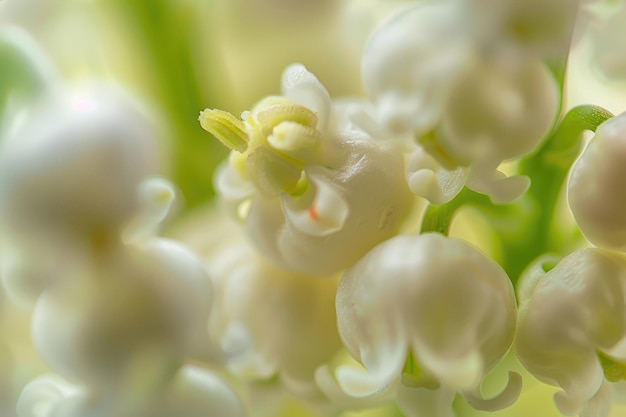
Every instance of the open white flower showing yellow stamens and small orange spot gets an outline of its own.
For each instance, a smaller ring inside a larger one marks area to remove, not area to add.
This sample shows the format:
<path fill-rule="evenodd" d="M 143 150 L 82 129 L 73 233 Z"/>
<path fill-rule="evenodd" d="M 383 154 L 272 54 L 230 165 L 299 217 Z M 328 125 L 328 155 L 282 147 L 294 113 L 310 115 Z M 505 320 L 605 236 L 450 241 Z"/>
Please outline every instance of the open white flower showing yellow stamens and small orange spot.
<path fill-rule="evenodd" d="M 217 188 L 259 250 L 283 269 L 326 275 L 398 231 L 412 204 L 402 154 L 335 112 L 302 65 L 285 70 L 282 88 L 243 121 L 219 110 L 200 121 L 233 149 Z"/>

